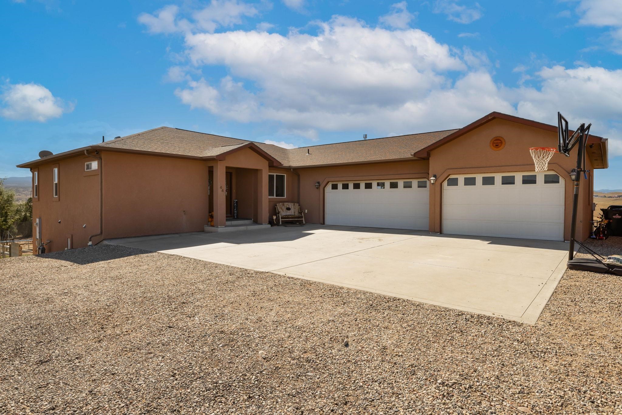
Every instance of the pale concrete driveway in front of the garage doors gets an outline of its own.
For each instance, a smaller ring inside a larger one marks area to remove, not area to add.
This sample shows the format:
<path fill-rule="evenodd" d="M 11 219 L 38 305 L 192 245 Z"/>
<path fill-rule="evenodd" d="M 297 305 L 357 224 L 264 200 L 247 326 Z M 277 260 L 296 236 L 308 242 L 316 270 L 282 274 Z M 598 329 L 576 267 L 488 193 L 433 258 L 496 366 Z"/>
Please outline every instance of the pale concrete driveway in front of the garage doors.
<path fill-rule="evenodd" d="M 535 324 L 566 269 L 556 241 L 350 226 L 279 226 L 107 243 Z"/>

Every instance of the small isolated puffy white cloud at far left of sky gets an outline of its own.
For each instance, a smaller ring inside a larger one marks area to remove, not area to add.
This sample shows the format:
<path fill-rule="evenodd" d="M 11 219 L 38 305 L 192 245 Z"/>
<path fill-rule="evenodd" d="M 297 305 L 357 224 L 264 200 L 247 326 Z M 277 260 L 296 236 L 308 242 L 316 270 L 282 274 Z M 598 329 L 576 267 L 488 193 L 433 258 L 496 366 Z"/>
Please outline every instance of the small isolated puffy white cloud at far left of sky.
<path fill-rule="evenodd" d="M 0 114 L 5 118 L 42 123 L 73 111 L 73 103 L 65 103 L 60 98 L 55 98 L 43 85 L 7 83 L 2 90 Z"/>

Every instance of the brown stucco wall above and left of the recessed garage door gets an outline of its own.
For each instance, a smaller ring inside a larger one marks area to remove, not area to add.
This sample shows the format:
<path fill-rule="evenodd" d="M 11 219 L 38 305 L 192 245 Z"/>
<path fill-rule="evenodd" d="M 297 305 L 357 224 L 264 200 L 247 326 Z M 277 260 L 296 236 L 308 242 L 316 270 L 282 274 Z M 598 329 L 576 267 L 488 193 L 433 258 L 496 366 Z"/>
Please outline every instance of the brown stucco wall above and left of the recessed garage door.
<path fill-rule="evenodd" d="M 335 180 L 419 179 L 428 177 L 427 161 L 404 161 L 351 166 L 297 169 L 300 174 L 300 207 L 309 223 L 324 223 L 324 189 Z M 320 182 L 320 189 L 315 184 Z"/>

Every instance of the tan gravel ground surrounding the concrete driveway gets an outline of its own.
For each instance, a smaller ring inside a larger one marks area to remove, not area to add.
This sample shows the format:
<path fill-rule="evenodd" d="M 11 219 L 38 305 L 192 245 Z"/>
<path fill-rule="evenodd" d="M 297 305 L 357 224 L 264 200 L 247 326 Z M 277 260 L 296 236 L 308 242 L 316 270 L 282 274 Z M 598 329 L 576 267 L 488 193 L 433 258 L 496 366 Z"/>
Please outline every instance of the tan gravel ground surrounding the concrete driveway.
<path fill-rule="evenodd" d="M 6 259 L 0 413 L 622 413 L 621 294 L 567 271 L 530 326 L 123 246 Z"/>

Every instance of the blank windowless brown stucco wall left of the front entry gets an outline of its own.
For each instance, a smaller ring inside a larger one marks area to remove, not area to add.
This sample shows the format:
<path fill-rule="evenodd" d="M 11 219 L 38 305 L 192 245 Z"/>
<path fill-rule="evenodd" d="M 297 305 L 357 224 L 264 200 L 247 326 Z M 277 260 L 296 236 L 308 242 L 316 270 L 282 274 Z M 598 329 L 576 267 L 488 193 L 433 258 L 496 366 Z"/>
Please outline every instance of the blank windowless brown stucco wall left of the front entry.
<path fill-rule="evenodd" d="M 102 153 L 104 238 L 202 231 L 208 166 L 203 161 Z"/>

